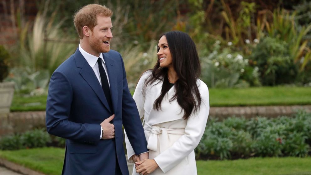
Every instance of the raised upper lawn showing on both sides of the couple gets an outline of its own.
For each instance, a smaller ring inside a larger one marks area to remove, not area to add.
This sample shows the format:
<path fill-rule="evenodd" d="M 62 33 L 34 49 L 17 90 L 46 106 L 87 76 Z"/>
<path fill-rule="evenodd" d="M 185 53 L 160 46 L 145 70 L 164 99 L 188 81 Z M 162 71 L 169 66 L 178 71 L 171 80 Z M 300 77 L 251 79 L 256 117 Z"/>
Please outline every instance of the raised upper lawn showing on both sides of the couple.
<path fill-rule="evenodd" d="M 132 92 L 133 94 L 133 92 Z M 250 87 L 209 89 L 211 106 L 271 106 L 311 104 L 311 87 Z M 11 111 L 45 110 L 46 95 L 14 95 Z"/>

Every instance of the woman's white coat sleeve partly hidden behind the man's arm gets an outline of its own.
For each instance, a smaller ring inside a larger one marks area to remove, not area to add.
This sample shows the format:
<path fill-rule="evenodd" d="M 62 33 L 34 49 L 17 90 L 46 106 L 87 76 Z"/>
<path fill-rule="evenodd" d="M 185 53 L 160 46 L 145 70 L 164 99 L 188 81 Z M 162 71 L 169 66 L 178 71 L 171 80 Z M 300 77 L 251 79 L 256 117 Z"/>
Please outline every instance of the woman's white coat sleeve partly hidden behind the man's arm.
<path fill-rule="evenodd" d="M 136 103 L 140 119 L 144 116 L 145 110 L 144 110 L 144 103 L 145 103 L 145 97 L 142 94 L 144 82 L 146 78 L 146 73 L 144 73 L 141 77 L 140 80 L 137 83 L 137 86 L 135 88 L 135 92 L 133 95 L 133 99 Z M 124 130 L 124 135 L 125 135 L 125 144 L 126 144 L 126 150 L 127 150 L 127 159 L 129 163 L 133 163 L 134 161 L 132 160 L 132 156 L 135 155 L 135 152 L 133 150 L 133 147 L 131 146 L 129 142 L 129 138 Z M 138 155 L 138 154 L 136 154 Z"/>

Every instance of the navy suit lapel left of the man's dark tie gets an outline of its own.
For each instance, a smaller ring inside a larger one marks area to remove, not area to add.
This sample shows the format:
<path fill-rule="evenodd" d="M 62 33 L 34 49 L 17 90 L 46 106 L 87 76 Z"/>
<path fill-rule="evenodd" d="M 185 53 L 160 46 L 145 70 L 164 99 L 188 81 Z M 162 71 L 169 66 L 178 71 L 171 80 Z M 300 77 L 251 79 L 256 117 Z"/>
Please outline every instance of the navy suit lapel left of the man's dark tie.
<path fill-rule="evenodd" d="M 91 68 L 89 64 L 87 64 L 87 61 L 82 56 L 79 49 L 76 50 L 75 53 L 75 60 L 76 60 L 76 66 L 81 68 L 80 75 L 84 78 L 84 80 L 91 86 L 93 91 L 96 93 L 100 101 L 103 103 L 103 105 L 108 109 L 108 111 L 111 112 L 107 99 L 105 97 L 105 94 L 103 92 L 102 87 L 100 86 L 98 79 Z"/>

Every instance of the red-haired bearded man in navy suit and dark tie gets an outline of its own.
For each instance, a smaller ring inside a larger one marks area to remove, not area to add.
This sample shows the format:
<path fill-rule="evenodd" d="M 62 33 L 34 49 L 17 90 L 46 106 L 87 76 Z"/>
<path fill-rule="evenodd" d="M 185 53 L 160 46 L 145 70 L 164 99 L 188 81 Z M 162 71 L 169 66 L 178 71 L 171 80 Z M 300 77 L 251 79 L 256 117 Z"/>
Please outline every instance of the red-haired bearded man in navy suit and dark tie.
<path fill-rule="evenodd" d="M 66 138 L 62 174 L 129 174 L 122 124 L 141 160 L 147 142 L 124 63 L 110 50 L 112 11 L 91 4 L 74 16 L 80 45 L 53 73 L 46 104 L 50 134 Z"/>

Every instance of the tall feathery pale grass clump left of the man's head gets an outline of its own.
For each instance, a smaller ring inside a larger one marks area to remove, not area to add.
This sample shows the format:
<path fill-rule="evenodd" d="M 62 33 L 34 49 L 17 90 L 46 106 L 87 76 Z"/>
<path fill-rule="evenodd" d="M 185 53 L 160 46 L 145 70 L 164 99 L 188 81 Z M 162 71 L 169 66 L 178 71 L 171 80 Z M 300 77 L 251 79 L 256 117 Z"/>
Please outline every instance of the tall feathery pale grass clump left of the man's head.
<path fill-rule="evenodd" d="M 33 26 L 29 27 L 28 21 L 26 26 L 20 29 L 19 45 L 13 50 L 14 65 L 29 69 L 31 74 L 47 70 L 51 75 L 74 53 L 78 43 L 72 42 L 72 38 L 61 30 L 60 27 L 66 18 L 56 21 L 57 9 L 47 17 L 49 2 L 46 1 L 43 11 L 37 13 Z"/>

